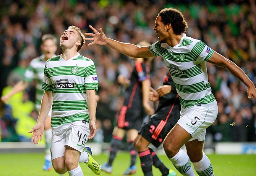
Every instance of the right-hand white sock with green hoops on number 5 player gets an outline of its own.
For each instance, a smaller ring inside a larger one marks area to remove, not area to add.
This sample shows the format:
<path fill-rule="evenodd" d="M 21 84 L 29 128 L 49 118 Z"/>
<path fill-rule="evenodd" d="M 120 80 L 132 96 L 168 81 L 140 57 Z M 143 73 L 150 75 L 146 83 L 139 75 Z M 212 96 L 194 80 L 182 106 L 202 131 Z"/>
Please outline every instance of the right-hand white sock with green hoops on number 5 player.
<path fill-rule="evenodd" d="M 211 162 L 204 152 L 203 158 L 199 162 L 193 163 L 193 165 L 199 176 L 214 176 Z"/>

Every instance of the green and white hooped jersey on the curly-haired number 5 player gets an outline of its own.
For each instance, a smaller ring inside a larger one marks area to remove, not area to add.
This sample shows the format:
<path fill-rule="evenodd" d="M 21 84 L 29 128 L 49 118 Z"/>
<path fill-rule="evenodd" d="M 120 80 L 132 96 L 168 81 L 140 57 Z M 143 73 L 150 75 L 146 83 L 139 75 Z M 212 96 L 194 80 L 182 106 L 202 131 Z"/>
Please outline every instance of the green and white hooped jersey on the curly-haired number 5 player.
<path fill-rule="evenodd" d="M 166 43 L 149 46 L 152 54 L 164 58 L 177 89 L 181 107 L 208 104 L 215 100 L 208 82 L 206 62 L 214 50 L 204 42 L 182 34 L 180 43 L 170 47 Z"/>

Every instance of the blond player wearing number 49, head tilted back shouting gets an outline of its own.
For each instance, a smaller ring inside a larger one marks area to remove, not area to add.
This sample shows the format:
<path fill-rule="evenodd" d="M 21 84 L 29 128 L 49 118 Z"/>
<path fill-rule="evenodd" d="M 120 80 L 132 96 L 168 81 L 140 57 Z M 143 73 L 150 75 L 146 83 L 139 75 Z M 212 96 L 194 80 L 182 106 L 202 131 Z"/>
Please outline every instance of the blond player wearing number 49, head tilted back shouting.
<path fill-rule="evenodd" d="M 78 162 L 85 162 L 100 174 L 99 164 L 91 149 L 84 147 L 96 133 L 96 95 L 98 78 L 91 59 L 78 53 L 85 43 L 78 27 L 70 26 L 60 37 L 62 54 L 47 60 L 44 68 L 45 90 L 31 142 L 42 139 L 44 121 L 52 105 L 51 156 L 54 170 L 68 171 L 70 176 L 83 176 Z"/>

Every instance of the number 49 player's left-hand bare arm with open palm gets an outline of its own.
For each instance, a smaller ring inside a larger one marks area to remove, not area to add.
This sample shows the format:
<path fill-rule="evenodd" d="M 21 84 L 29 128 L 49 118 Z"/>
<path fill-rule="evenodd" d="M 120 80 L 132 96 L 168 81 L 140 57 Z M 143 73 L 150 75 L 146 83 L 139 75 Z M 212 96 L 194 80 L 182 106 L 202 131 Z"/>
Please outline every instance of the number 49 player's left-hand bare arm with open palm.
<path fill-rule="evenodd" d="M 38 141 L 42 140 L 42 136 L 44 133 L 44 121 L 47 117 L 47 114 L 50 111 L 51 106 L 52 106 L 52 92 L 45 91 L 43 98 L 42 98 L 40 112 L 39 112 L 39 116 L 37 118 L 37 123 L 28 132 L 28 133 L 33 132 L 32 137 L 31 137 L 31 143 L 34 142 L 34 144 L 38 144 Z"/>

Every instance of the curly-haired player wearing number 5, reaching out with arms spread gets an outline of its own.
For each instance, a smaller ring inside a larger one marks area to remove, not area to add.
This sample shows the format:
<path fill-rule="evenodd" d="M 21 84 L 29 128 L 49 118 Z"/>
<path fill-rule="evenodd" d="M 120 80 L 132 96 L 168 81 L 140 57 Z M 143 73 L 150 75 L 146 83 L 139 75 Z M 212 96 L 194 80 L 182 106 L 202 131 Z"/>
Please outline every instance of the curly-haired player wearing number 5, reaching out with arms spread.
<path fill-rule="evenodd" d="M 107 38 L 100 28 L 98 32 L 85 33 L 92 44 L 107 45 L 131 57 L 161 55 L 175 82 L 181 102 L 180 119 L 164 140 L 164 150 L 175 168 L 187 176 L 213 176 L 210 160 L 203 152 L 206 128 L 216 119 L 218 108 L 207 78 L 206 62 L 224 67 L 247 86 L 248 98 L 256 98 L 256 88 L 246 74 L 232 61 L 215 52 L 200 40 L 188 37 L 188 24 L 183 14 L 174 8 L 161 10 L 156 17 L 154 30 L 159 41 L 151 46 L 139 47 Z M 186 145 L 187 153 L 181 149 Z"/>

